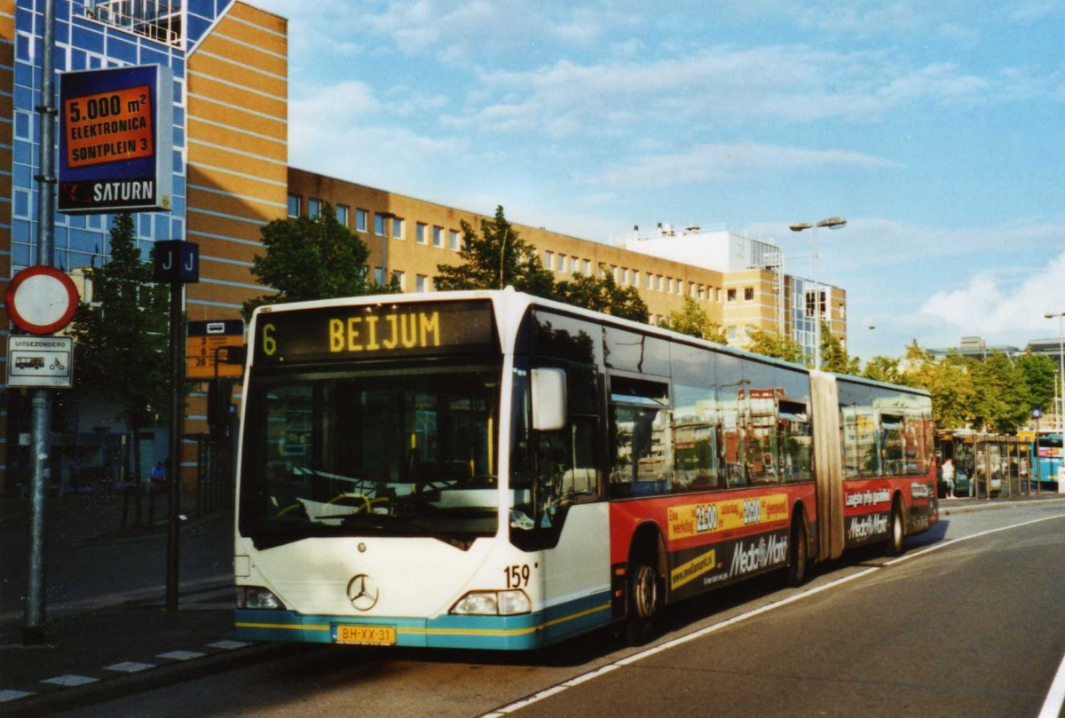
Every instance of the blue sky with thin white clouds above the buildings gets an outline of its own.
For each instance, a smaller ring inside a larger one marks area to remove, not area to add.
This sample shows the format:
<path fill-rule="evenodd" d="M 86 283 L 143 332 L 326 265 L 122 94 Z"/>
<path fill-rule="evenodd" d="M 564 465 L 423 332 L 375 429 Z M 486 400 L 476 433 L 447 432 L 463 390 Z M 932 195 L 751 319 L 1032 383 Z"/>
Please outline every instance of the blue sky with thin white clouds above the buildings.
<path fill-rule="evenodd" d="M 249 0 L 289 163 L 609 243 L 726 225 L 847 290 L 852 356 L 1065 311 L 1065 0 Z"/>

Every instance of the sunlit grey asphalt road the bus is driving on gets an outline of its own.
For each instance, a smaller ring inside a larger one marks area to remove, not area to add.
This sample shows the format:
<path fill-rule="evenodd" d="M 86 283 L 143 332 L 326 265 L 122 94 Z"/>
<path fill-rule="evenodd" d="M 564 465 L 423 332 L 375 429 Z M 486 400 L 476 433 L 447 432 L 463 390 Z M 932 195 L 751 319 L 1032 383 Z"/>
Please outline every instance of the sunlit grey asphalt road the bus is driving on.
<path fill-rule="evenodd" d="M 1065 654 L 1065 505 L 948 516 L 907 545 L 689 602 L 643 650 L 607 633 L 534 655 L 293 647 L 59 715 L 1041 716 Z"/>

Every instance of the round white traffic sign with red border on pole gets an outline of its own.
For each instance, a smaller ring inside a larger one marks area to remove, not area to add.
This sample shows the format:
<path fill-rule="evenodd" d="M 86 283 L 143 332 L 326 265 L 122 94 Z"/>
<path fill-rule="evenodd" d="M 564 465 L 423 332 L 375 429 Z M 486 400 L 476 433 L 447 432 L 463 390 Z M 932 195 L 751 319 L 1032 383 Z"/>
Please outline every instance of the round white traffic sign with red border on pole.
<path fill-rule="evenodd" d="M 31 334 L 54 333 L 78 311 L 78 288 L 52 266 L 31 266 L 16 274 L 4 299 L 11 321 Z"/>

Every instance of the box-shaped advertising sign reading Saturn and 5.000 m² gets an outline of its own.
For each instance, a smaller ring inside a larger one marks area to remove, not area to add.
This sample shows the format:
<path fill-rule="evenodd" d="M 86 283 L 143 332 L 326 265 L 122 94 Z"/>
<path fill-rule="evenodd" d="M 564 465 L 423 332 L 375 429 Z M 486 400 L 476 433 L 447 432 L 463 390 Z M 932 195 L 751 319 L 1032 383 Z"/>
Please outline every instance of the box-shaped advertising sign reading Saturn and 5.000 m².
<path fill-rule="evenodd" d="M 170 70 L 141 65 L 60 76 L 59 209 L 170 209 Z"/>

